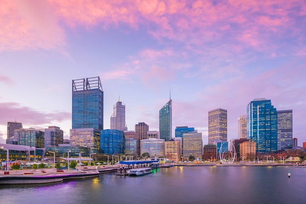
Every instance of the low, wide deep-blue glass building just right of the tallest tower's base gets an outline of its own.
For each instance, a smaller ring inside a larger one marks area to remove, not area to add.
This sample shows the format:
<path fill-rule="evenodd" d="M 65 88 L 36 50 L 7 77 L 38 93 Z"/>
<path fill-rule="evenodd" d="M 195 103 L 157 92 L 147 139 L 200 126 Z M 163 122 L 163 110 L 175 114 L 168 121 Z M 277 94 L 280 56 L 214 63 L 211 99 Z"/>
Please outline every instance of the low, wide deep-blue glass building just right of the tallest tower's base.
<path fill-rule="evenodd" d="M 124 154 L 125 136 L 120 130 L 101 130 L 101 153 Z"/>

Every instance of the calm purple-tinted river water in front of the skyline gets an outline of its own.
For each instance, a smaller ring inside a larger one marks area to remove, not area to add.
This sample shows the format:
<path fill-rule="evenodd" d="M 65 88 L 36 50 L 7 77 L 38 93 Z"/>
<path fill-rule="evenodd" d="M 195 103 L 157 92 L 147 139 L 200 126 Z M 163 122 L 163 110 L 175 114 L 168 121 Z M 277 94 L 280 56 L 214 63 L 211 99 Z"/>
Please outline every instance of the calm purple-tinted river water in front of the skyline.
<path fill-rule="evenodd" d="M 306 204 L 305 191 L 302 167 L 174 166 L 141 177 L 0 185 L 0 204 Z"/>

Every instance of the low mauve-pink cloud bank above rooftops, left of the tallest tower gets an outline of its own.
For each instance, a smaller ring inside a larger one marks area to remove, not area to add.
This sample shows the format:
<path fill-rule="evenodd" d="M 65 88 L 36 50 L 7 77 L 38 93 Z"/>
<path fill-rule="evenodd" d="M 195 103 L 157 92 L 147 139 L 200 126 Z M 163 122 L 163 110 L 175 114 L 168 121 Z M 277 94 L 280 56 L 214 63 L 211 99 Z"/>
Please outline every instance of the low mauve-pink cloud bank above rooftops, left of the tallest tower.
<path fill-rule="evenodd" d="M 44 113 L 30 107 L 21 106 L 16 102 L 0 102 L 0 113 L 0 124 L 3 125 L 6 125 L 8 121 L 15 121 L 15 119 L 27 125 L 42 125 L 71 119 L 71 113 L 65 111 Z"/>

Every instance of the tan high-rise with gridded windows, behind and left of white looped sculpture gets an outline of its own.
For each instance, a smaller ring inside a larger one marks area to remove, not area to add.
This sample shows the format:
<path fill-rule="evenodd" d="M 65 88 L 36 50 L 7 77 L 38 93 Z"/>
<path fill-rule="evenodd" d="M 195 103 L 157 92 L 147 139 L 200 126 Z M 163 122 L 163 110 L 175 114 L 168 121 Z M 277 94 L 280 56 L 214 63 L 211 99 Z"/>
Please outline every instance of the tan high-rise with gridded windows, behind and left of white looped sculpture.
<path fill-rule="evenodd" d="M 208 144 L 227 141 L 227 110 L 217 108 L 208 111 Z"/>

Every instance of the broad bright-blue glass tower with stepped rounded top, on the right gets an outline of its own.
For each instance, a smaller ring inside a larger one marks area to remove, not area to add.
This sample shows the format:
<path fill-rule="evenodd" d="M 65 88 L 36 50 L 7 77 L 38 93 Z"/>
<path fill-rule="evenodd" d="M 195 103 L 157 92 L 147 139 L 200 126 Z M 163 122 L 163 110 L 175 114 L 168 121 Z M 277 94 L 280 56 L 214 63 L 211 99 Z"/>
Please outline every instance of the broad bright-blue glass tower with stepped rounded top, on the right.
<path fill-rule="evenodd" d="M 246 127 L 256 153 L 277 152 L 277 111 L 271 100 L 254 99 L 247 105 Z"/>

